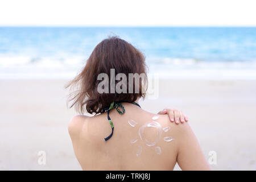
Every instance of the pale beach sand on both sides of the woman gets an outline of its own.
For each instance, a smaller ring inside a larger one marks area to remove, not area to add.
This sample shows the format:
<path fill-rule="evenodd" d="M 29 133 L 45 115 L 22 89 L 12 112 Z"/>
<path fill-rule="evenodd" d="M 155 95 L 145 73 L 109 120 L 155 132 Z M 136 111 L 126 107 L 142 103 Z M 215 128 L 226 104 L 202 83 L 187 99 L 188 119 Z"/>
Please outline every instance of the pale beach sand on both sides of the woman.
<path fill-rule="evenodd" d="M 81 170 L 67 130 L 76 113 L 66 107 L 65 82 L 0 80 L 1 170 Z M 216 152 L 212 169 L 256 169 L 256 81 L 160 80 L 159 98 L 140 104 L 187 114 L 205 157 Z M 39 151 L 46 152 L 44 165 Z"/>

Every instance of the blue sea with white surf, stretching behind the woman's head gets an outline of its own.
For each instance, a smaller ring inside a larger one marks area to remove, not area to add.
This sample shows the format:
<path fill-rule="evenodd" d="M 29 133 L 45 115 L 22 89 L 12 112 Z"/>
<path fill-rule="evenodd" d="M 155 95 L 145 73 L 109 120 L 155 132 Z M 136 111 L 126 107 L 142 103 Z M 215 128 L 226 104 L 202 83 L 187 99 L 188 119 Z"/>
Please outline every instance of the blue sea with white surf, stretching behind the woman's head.
<path fill-rule="evenodd" d="M 72 78 L 108 36 L 162 78 L 256 79 L 256 27 L 0 27 L 0 78 Z"/>

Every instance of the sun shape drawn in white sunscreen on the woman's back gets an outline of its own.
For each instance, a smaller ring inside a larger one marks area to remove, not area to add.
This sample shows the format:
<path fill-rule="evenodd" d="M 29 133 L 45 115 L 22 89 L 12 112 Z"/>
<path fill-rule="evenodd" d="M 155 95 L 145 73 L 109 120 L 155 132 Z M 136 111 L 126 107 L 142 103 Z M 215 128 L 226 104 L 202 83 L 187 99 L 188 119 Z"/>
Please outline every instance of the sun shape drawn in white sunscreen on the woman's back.
<path fill-rule="evenodd" d="M 152 146 L 155 146 L 155 152 L 156 154 L 160 155 L 162 150 L 159 146 L 156 146 L 156 144 L 158 144 L 160 138 L 162 137 L 162 131 L 163 132 L 167 132 L 171 129 L 171 127 L 167 126 L 167 127 L 164 127 L 162 128 L 162 126 L 160 125 L 160 123 L 156 122 L 155 120 L 158 119 L 159 116 L 158 115 L 155 115 L 154 117 L 152 117 L 152 120 L 153 121 L 149 121 L 149 122 L 146 122 L 144 125 L 142 125 L 141 127 L 139 127 L 138 129 L 138 134 L 139 136 L 136 137 L 135 139 L 132 139 L 130 140 L 130 143 L 131 144 L 134 144 L 136 143 L 139 139 L 141 139 L 141 141 L 146 144 L 146 146 L 148 147 L 152 147 Z M 129 125 L 131 127 L 135 127 L 138 123 L 135 122 L 134 120 L 129 120 L 128 121 Z M 144 129 L 147 128 L 147 127 L 153 127 L 156 129 L 156 133 L 154 134 L 155 136 L 155 139 L 154 141 L 149 141 L 145 136 L 144 136 Z M 166 142 L 171 142 L 172 140 L 174 140 L 172 137 L 164 137 L 163 138 L 164 141 Z M 139 155 L 141 155 L 142 153 L 142 146 L 138 146 L 137 148 L 137 157 Z"/>

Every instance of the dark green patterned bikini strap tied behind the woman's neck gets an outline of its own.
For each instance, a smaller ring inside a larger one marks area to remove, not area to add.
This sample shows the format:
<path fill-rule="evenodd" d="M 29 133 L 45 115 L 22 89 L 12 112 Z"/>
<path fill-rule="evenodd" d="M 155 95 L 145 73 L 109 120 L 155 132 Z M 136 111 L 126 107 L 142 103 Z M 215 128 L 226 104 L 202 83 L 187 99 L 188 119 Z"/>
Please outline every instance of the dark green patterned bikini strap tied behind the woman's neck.
<path fill-rule="evenodd" d="M 129 102 L 129 101 L 117 101 L 117 102 L 112 102 L 112 103 L 110 104 L 110 107 L 105 108 L 104 111 L 102 112 L 102 113 L 104 113 L 105 111 L 108 112 L 108 121 L 109 121 L 110 126 L 111 126 L 111 128 L 112 128 L 112 133 L 109 135 L 109 137 L 104 138 L 105 141 L 108 140 L 108 139 L 110 139 L 110 138 L 112 137 L 112 135 L 113 135 L 113 132 L 114 132 L 114 125 L 113 125 L 113 122 L 112 122 L 111 118 L 109 117 L 109 111 L 115 108 L 119 114 L 125 113 L 125 107 L 123 107 L 123 105 L 121 104 L 121 102 Z M 138 107 L 141 107 L 141 106 L 140 106 L 139 104 L 137 104 L 136 102 L 129 102 L 129 103 L 134 104 L 134 105 L 137 105 Z M 119 110 L 118 107 L 121 107 L 122 111 Z"/>

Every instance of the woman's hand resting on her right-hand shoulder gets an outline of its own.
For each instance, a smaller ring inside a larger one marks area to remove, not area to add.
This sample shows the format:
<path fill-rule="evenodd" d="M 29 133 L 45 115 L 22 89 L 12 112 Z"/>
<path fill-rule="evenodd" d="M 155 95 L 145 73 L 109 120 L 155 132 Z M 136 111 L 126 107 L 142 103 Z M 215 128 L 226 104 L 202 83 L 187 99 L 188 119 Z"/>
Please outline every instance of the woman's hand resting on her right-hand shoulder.
<path fill-rule="evenodd" d="M 188 117 L 186 115 L 184 115 L 181 111 L 176 110 L 176 109 L 163 109 L 161 111 L 158 112 L 158 114 L 168 114 L 170 121 L 174 122 L 176 124 L 184 123 L 184 122 L 188 122 Z"/>

